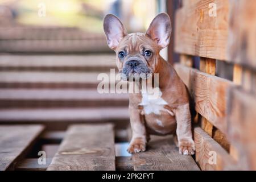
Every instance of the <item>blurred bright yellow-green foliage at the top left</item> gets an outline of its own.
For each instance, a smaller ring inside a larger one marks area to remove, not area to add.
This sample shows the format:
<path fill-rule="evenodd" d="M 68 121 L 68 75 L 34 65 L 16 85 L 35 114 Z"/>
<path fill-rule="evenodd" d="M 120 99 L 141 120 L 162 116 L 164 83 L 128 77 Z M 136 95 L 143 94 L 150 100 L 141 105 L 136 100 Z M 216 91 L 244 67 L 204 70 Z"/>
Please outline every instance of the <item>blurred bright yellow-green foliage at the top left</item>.
<path fill-rule="evenodd" d="M 102 18 L 106 0 L 22 0 L 16 2 L 17 21 L 39 26 L 79 27 L 87 31 L 102 32 Z M 39 5 L 46 5 L 46 16 L 38 15 Z"/>

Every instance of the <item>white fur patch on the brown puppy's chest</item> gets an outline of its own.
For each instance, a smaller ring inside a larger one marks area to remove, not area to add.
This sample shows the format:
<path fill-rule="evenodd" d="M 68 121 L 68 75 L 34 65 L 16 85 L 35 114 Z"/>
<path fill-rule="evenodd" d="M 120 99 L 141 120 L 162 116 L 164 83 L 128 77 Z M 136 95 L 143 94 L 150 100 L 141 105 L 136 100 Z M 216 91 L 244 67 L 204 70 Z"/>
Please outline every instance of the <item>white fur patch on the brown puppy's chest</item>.
<path fill-rule="evenodd" d="M 147 92 L 142 92 L 142 101 L 140 106 L 143 106 L 144 114 L 158 114 L 160 111 L 164 110 L 173 115 L 173 113 L 164 108 L 164 105 L 167 105 L 167 102 L 162 98 L 162 92 L 159 88 L 155 88 L 152 94 Z"/>

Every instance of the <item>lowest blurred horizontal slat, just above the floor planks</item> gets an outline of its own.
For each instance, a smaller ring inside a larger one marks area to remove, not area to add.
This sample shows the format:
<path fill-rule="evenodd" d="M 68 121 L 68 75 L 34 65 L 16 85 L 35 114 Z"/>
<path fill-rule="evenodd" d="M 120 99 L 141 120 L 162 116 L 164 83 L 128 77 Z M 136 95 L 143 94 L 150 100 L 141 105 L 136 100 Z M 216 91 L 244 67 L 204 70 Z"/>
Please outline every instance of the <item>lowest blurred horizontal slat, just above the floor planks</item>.
<path fill-rule="evenodd" d="M 44 123 L 48 130 L 67 130 L 74 123 L 110 122 L 118 129 L 129 125 L 127 107 L 90 107 L 70 109 L 1 109 L 1 124 Z"/>

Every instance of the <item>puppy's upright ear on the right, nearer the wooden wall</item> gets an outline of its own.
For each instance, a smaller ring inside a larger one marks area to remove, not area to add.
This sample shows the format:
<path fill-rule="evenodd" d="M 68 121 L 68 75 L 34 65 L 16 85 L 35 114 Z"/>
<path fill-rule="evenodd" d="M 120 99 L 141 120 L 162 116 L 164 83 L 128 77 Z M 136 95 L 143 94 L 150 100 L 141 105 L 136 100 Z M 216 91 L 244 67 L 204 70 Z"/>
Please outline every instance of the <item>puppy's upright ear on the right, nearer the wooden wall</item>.
<path fill-rule="evenodd" d="M 170 43 L 171 32 L 170 17 L 166 13 L 160 13 L 152 20 L 146 36 L 156 41 L 160 49 L 163 49 Z"/>

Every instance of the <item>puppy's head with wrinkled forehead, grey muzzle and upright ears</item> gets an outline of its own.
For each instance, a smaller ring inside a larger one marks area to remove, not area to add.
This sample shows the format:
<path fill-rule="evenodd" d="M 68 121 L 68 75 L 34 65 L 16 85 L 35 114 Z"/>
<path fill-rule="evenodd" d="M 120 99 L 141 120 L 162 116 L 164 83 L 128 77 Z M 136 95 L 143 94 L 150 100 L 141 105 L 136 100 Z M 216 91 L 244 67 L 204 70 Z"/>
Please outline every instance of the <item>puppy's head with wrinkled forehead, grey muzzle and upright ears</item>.
<path fill-rule="evenodd" d="M 104 18 L 108 46 L 117 54 L 117 67 L 127 78 L 129 74 L 158 72 L 159 52 L 168 46 L 171 21 L 166 13 L 152 20 L 146 33 L 127 34 L 121 20 L 112 14 Z"/>

